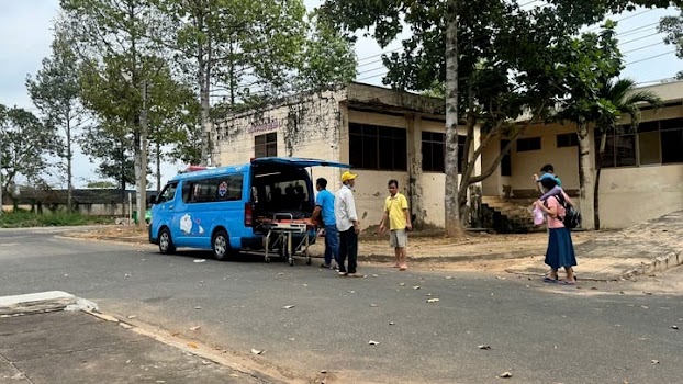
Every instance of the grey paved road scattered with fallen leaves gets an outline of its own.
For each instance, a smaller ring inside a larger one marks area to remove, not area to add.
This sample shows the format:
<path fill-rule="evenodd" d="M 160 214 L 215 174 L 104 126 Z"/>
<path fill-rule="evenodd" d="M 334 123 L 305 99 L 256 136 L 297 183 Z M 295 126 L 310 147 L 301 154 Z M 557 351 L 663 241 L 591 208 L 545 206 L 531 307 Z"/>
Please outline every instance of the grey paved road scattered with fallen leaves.
<path fill-rule="evenodd" d="M 683 374 L 683 330 L 672 329 L 683 327 L 683 271 L 578 289 L 363 266 L 368 278 L 343 279 L 303 263 L 195 262 L 209 253 L 55 235 L 0 230 L 0 295 L 66 291 L 299 377 L 500 383 L 508 371 L 517 383 L 675 383 Z"/>

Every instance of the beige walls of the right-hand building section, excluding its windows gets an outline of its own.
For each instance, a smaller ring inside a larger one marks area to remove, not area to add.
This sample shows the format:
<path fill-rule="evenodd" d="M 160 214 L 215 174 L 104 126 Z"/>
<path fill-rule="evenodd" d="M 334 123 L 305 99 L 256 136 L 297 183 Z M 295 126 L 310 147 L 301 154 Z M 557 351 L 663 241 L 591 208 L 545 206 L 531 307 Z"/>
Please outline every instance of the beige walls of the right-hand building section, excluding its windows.
<path fill-rule="evenodd" d="M 641 112 L 641 123 L 683 117 L 683 81 L 658 84 L 638 90 L 650 90 L 659 94 L 669 106 L 648 109 Z M 673 104 L 673 105 L 672 105 Z M 629 124 L 630 117 L 624 115 L 619 124 Z M 517 151 L 516 144 L 511 150 L 512 177 L 508 182 L 514 190 L 535 188 L 531 174 L 538 173 L 545 163 L 552 163 L 561 178 L 564 189 L 579 189 L 578 147 L 557 147 L 557 135 L 575 132 L 573 124 L 548 124 L 531 126 L 522 136 L 540 137 L 541 149 Z M 591 148 L 596 140 L 592 132 Z M 638 148 L 638 146 L 636 147 Z M 636 149 L 638 150 L 638 149 Z M 499 154 L 499 146 L 486 148 L 482 163 L 491 163 Z M 595 172 L 595 156 L 591 154 L 591 172 Z M 507 182 L 500 176 L 500 167 L 483 182 L 484 195 L 501 195 Z M 683 163 L 640 165 L 618 168 L 603 168 L 600 181 L 601 228 L 624 228 L 663 214 L 683 208 Z M 579 202 L 579 199 L 574 199 Z"/>

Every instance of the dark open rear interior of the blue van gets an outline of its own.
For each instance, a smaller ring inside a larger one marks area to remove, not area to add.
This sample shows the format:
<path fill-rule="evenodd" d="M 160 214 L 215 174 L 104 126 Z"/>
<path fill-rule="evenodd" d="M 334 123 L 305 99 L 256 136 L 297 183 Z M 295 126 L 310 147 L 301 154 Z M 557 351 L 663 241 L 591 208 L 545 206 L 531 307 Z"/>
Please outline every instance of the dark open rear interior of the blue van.
<path fill-rule="evenodd" d="M 314 207 L 311 177 L 301 168 L 259 167 L 251 182 L 251 203 L 256 217 L 275 217 L 278 213 L 310 217 Z"/>

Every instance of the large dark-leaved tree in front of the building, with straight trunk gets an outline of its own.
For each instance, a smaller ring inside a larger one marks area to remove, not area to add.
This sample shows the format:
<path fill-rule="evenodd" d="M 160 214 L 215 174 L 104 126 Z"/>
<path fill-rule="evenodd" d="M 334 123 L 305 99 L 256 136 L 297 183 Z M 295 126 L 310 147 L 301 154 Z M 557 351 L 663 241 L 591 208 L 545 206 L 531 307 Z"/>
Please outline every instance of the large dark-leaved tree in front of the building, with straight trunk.
<path fill-rule="evenodd" d="M 507 122 L 519 117 L 520 111 L 531 111 L 533 116 L 540 117 L 547 105 L 568 94 L 566 78 L 559 76 L 568 64 L 561 50 L 568 44 L 568 36 L 608 12 L 637 5 L 667 7 L 670 1 L 550 0 L 548 3 L 551 7 L 524 10 L 516 1 L 502 0 L 477 0 L 467 5 L 457 0 L 327 0 L 323 7 L 347 31 L 372 27 L 369 34 L 381 47 L 394 41 L 403 25 L 411 29 L 411 37 L 402 42 L 402 53 L 383 56 L 389 69 L 384 83 L 422 91 L 432 89 L 435 79 L 444 82 L 448 236 L 462 234 L 461 207 L 470 182 L 481 181 L 493 172 L 490 169 L 479 177 L 468 177 L 467 169 L 473 168 L 470 162 L 458 183 L 459 116 L 468 122 L 464 150 L 469 161 L 473 145 L 469 127 L 478 120 L 488 120 L 482 124 L 488 133 L 474 156 L 481 154 L 490 137 L 502 133 L 497 128 L 504 129 L 510 126 Z M 497 82 L 492 82 L 493 79 Z M 484 98 L 479 97 L 482 93 Z M 485 98 L 495 101 L 493 108 L 483 101 Z M 524 127 L 516 127 L 512 137 L 522 132 Z M 508 148 L 502 150 L 499 159 Z"/>

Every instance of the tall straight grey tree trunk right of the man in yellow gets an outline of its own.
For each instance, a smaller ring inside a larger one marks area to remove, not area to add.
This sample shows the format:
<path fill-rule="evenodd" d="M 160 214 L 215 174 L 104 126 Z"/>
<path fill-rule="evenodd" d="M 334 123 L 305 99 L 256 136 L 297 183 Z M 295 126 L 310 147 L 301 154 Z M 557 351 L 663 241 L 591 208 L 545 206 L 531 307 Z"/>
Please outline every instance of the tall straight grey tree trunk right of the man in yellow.
<path fill-rule="evenodd" d="M 444 191 L 447 237 L 464 235 L 458 193 L 458 2 L 446 11 L 446 185 Z"/>

